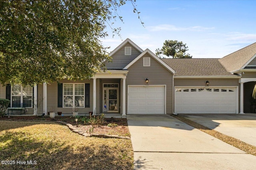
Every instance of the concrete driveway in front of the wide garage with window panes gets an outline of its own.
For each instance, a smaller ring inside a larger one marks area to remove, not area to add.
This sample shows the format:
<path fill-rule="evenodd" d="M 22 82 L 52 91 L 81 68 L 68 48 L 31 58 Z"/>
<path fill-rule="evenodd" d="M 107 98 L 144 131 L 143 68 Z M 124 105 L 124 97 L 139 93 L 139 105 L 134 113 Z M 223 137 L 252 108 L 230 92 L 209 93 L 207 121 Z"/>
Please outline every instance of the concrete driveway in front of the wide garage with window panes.
<path fill-rule="evenodd" d="M 180 116 L 256 146 L 256 114 L 194 114 Z"/>

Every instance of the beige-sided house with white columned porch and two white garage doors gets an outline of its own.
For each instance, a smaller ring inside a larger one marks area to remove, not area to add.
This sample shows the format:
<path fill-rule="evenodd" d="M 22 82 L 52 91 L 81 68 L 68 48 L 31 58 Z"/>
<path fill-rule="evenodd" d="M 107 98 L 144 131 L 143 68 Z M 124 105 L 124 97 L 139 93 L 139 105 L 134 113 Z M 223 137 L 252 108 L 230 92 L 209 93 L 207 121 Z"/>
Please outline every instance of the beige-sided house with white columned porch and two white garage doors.
<path fill-rule="evenodd" d="M 28 113 L 51 107 L 80 113 L 250 113 L 256 82 L 256 43 L 221 59 L 159 59 L 126 39 L 105 61 L 107 71 L 90 80 L 1 86 L 0 98 Z M 146 81 L 147 80 L 147 81 Z M 208 84 L 206 83 L 208 82 Z"/>

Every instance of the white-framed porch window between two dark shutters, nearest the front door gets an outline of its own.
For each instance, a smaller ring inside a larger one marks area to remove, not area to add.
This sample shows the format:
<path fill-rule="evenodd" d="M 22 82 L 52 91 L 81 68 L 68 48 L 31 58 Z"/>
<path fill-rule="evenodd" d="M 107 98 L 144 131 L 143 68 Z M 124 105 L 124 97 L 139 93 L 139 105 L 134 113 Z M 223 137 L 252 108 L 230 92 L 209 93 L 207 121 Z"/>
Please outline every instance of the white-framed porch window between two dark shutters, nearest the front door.
<path fill-rule="evenodd" d="M 63 84 L 64 107 L 84 107 L 84 84 Z"/>

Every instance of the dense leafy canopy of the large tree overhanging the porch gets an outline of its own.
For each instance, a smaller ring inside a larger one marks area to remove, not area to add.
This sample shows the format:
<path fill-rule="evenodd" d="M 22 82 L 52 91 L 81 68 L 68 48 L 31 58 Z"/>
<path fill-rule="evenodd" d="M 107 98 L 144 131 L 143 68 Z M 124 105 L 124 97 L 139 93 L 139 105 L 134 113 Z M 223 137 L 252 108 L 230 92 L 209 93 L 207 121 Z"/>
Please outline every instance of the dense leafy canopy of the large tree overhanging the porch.
<path fill-rule="evenodd" d="M 64 77 L 92 77 L 109 59 L 99 41 L 108 35 L 106 23 L 125 2 L 1 0 L 1 84 L 33 85 Z M 113 31 L 118 33 L 120 28 Z"/>

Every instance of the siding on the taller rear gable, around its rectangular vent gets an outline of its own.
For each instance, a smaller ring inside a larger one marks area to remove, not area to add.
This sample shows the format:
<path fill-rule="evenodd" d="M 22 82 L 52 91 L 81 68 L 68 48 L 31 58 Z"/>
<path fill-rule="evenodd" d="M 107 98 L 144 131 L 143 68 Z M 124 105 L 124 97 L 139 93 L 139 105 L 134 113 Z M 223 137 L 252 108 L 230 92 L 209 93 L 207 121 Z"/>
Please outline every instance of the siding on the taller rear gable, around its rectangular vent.
<path fill-rule="evenodd" d="M 132 45 L 130 45 L 130 43 L 126 43 L 124 47 L 112 56 L 112 62 L 106 61 L 105 65 L 108 69 L 122 69 L 141 54 L 140 51 L 132 47 L 132 55 L 124 55 L 125 47 L 132 47 Z"/>

